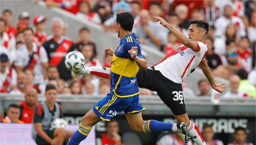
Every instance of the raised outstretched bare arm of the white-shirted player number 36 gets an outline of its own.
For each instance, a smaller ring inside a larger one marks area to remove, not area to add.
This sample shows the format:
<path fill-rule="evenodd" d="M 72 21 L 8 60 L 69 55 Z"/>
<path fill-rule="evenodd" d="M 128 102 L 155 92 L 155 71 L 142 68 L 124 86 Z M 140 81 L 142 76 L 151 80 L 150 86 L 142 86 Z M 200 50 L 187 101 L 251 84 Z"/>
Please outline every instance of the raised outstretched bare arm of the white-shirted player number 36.
<path fill-rule="evenodd" d="M 171 24 L 167 23 L 163 18 L 161 17 L 153 17 L 156 22 L 160 21 L 160 24 L 162 24 L 164 27 L 168 28 L 174 35 L 175 37 L 181 41 L 182 44 L 185 46 L 191 48 L 193 51 L 198 50 L 198 45 L 196 44 L 195 41 L 189 39 L 186 37 L 184 34 L 182 34 L 179 30 L 174 28 Z M 193 31 L 193 30 L 192 30 Z"/>

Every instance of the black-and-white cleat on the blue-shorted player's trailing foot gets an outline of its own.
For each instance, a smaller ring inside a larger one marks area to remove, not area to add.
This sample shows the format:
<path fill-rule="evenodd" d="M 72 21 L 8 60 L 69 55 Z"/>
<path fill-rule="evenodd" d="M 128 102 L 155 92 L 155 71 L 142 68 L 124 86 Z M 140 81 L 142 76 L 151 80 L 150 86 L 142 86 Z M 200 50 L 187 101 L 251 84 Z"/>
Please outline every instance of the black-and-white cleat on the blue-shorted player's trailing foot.
<path fill-rule="evenodd" d="M 178 128 L 177 134 L 180 135 L 180 137 L 186 143 L 188 143 L 190 139 L 190 133 L 189 133 L 187 124 L 184 122 L 177 122 L 177 128 Z"/>

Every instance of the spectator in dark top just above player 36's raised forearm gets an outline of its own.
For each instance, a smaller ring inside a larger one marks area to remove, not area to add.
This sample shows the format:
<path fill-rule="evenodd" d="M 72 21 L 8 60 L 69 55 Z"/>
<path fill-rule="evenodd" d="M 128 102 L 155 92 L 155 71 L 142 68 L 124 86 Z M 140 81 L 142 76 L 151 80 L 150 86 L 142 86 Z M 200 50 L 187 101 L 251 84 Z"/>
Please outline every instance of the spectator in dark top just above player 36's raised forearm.
<path fill-rule="evenodd" d="M 189 20 L 188 20 L 188 13 L 189 13 L 189 8 L 188 6 L 184 4 L 180 4 L 175 7 L 175 13 L 179 16 L 180 18 L 180 24 L 179 27 L 188 29 L 189 25 Z"/>

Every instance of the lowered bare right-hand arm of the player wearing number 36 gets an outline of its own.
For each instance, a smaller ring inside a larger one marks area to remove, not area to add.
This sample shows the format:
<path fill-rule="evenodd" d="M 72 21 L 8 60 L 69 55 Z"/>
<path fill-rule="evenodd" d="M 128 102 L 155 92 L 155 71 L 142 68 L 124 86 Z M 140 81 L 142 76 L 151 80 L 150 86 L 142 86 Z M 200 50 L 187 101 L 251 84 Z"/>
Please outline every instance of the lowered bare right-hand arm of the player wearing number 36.
<path fill-rule="evenodd" d="M 226 86 L 222 86 L 222 85 L 224 85 L 225 83 L 221 83 L 221 84 L 216 84 L 216 83 L 215 83 L 213 74 L 211 73 L 211 70 L 210 70 L 210 68 L 208 67 L 207 62 L 204 61 L 204 62 L 200 63 L 200 64 L 199 64 L 199 67 L 202 69 L 203 74 L 204 74 L 204 75 L 206 76 L 206 78 L 208 79 L 208 81 L 209 81 L 211 87 L 212 87 L 214 90 L 216 90 L 216 91 L 218 91 L 218 92 L 220 92 L 220 93 L 224 92 L 224 89 L 223 89 L 223 88 L 226 88 Z"/>

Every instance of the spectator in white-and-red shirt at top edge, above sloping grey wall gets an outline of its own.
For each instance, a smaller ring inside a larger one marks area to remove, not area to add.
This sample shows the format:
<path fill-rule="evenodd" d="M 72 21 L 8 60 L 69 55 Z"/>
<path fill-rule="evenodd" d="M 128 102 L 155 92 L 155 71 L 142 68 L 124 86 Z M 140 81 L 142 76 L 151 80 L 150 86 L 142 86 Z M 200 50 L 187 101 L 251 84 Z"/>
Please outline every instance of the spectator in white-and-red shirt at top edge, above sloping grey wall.
<path fill-rule="evenodd" d="M 77 12 L 75 16 L 82 21 L 90 21 L 96 24 L 101 24 L 99 14 L 90 11 L 90 5 L 88 1 L 80 2 L 79 12 Z"/>

